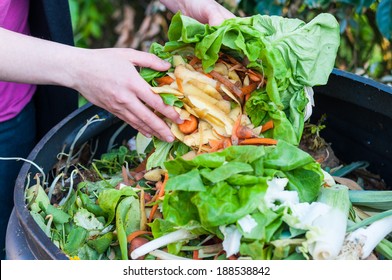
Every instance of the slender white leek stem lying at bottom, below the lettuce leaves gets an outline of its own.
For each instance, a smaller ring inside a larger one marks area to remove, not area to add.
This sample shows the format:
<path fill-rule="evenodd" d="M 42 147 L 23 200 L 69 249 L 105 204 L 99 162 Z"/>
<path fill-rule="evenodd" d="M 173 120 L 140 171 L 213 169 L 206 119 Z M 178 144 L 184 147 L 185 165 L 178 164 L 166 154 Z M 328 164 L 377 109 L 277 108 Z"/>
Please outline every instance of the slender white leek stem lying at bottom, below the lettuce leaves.
<path fill-rule="evenodd" d="M 179 229 L 177 231 L 173 231 L 169 234 L 153 239 L 150 242 L 147 242 L 146 244 L 136 248 L 132 251 L 131 258 L 137 259 L 170 243 L 194 239 L 196 237 L 197 235 L 194 235 L 185 229 Z"/>

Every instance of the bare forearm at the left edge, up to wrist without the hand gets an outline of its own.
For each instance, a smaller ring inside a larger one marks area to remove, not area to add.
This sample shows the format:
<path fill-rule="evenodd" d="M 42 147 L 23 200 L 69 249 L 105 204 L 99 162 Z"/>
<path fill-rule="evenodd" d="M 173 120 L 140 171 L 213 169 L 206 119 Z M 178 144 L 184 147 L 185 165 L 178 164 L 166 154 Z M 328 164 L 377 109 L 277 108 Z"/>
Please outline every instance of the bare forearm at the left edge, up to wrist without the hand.
<path fill-rule="evenodd" d="M 0 80 L 72 87 L 70 68 L 81 51 L 0 28 Z"/>

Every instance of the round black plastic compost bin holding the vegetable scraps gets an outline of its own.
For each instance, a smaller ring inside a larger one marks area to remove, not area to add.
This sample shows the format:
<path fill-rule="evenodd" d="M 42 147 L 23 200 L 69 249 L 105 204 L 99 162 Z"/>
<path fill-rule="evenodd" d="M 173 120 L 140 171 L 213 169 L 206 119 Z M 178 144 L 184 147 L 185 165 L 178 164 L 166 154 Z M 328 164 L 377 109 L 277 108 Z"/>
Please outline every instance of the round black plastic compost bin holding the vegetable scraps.
<path fill-rule="evenodd" d="M 327 115 L 323 137 L 332 143 L 337 157 L 345 162 L 367 161 L 368 170 L 379 174 L 392 189 L 392 88 L 351 73 L 334 70 L 325 86 L 315 87 L 316 107 L 313 120 Z M 99 115 L 105 121 L 88 127 L 78 144 L 99 140 L 96 155 L 108 145 L 135 135 L 129 126 L 115 139 L 113 135 L 123 125 L 116 117 L 93 105 L 86 105 L 72 113 L 53 128 L 34 148 L 29 160 L 44 171 L 57 162 L 56 155 L 69 147 L 86 120 Z M 38 170 L 25 163 L 15 186 L 15 208 L 10 218 L 6 252 L 8 259 L 67 259 L 38 227 L 26 209 L 24 191 L 29 173 Z"/>

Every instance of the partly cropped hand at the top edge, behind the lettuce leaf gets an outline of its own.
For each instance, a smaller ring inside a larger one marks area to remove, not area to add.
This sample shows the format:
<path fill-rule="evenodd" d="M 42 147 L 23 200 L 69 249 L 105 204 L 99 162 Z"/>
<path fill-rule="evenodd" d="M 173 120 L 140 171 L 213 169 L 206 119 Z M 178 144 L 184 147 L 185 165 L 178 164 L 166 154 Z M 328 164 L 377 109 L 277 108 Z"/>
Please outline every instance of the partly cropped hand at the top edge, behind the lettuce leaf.
<path fill-rule="evenodd" d="M 161 2 L 172 12 L 181 11 L 182 14 L 209 25 L 219 25 L 225 19 L 235 17 L 233 13 L 214 0 L 161 0 Z"/>

